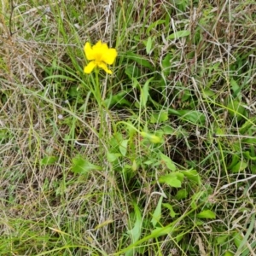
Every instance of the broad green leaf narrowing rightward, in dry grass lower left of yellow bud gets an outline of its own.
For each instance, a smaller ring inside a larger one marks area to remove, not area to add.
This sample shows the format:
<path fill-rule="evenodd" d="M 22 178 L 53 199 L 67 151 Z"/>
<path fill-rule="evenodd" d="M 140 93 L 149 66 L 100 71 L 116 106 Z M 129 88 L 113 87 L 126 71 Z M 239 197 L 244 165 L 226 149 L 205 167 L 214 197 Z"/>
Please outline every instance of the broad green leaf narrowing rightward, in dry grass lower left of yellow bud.
<path fill-rule="evenodd" d="M 88 160 L 85 160 L 84 157 L 78 155 L 72 160 L 73 166 L 71 170 L 73 173 L 84 174 L 93 170 L 101 171 L 101 166 L 96 166 L 91 164 Z"/>

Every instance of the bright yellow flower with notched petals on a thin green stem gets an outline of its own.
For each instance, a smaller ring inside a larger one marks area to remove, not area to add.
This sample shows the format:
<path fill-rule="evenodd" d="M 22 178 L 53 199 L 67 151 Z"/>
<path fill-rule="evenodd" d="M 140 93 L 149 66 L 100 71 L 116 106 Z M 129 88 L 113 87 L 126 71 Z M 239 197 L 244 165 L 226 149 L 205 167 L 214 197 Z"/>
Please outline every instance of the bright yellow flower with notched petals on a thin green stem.
<path fill-rule="evenodd" d="M 84 67 L 84 73 L 91 73 L 95 67 L 103 68 L 107 73 L 112 73 L 108 69 L 108 65 L 112 65 L 117 56 L 116 49 L 108 48 L 107 44 L 102 44 L 102 41 L 98 41 L 97 44 L 91 47 L 90 43 L 84 45 L 84 53 L 88 61 L 88 65 Z"/>

